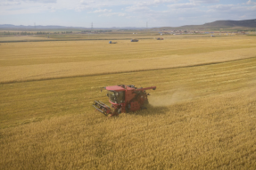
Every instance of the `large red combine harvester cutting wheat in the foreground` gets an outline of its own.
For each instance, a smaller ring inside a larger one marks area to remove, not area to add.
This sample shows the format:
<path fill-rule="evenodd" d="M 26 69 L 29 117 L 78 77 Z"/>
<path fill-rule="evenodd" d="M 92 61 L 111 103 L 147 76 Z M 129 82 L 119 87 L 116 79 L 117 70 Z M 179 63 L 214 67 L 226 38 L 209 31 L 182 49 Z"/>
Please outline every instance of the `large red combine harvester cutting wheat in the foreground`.
<path fill-rule="evenodd" d="M 128 113 L 138 109 L 145 109 L 144 104 L 148 103 L 145 90 L 156 89 L 156 86 L 136 88 L 134 85 L 113 85 L 103 87 L 108 91 L 107 96 L 111 107 L 102 101 L 95 101 L 93 106 L 105 116 L 119 116 L 120 113 Z M 112 110 L 112 109 L 113 110 Z"/>

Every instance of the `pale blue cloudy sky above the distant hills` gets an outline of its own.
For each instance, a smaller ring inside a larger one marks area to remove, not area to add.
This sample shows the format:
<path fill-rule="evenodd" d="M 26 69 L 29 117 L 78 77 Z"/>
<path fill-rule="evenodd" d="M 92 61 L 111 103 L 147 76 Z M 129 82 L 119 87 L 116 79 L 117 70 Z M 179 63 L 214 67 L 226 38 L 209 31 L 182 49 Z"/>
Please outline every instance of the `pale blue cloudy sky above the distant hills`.
<path fill-rule="evenodd" d="M 0 24 L 178 27 L 256 19 L 256 0 L 0 0 Z"/>

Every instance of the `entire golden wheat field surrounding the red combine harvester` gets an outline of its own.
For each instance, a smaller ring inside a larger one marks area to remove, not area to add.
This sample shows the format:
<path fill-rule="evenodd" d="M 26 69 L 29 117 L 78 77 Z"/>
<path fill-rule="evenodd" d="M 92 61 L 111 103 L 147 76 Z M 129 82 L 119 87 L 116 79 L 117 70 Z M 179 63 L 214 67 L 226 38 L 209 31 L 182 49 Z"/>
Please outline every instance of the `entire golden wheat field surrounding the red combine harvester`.
<path fill-rule="evenodd" d="M 1 169 L 255 169 L 256 37 L 1 44 Z M 100 87 L 156 85 L 120 117 Z"/>

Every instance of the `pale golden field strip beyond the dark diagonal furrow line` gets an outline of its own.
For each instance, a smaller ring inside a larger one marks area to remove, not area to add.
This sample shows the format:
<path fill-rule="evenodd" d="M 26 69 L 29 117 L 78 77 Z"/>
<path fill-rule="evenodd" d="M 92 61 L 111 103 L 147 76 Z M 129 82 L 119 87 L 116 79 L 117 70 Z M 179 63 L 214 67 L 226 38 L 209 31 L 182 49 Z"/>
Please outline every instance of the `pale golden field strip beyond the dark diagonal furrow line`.
<path fill-rule="evenodd" d="M 0 45 L 0 82 L 192 66 L 254 57 L 255 37 Z"/>

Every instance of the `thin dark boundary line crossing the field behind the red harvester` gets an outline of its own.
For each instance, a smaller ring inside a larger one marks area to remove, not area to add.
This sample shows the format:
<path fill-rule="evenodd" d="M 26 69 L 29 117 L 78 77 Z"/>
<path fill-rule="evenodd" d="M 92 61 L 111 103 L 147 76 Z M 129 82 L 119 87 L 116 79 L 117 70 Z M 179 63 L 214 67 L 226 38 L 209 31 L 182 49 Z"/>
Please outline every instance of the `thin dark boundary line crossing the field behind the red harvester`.
<path fill-rule="evenodd" d="M 221 64 L 221 63 L 234 62 L 234 61 L 244 61 L 244 60 L 250 60 L 250 59 L 256 59 L 256 56 L 248 57 L 248 58 L 244 58 L 244 59 L 236 59 L 236 60 L 232 60 L 232 61 L 214 61 L 214 62 L 205 62 L 205 63 L 199 63 L 199 64 L 194 64 L 194 65 L 178 66 L 178 67 L 166 67 L 166 68 L 157 68 L 157 69 L 135 69 L 135 70 L 128 70 L 128 71 L 112 71 L 112 72 L 105 72 L 105 73 L 84 74 L 84 75 L 74 75 L 74 76 L 45 77 L 45 78 L 23 79 L 23 80 L 22 79 L 10 80 L 10 81 L 0 82 L 0 85 L 13 84 L 13 83 L 23 83 L 23 82 L 33 82 L 33 81 L 45 81 L 45 80 L 54 80 L 54 79 L 64 79 L 64 78 L 73 78 L 73 77 L 95 77 L 95 76 L 103 76 L 103 75 L 132 73 L 132 72 L 142 72 L 142 71 L 153 71 L 153 70 L 161 70 L 161 69 L 193 68 L 193 67 Z"/>

